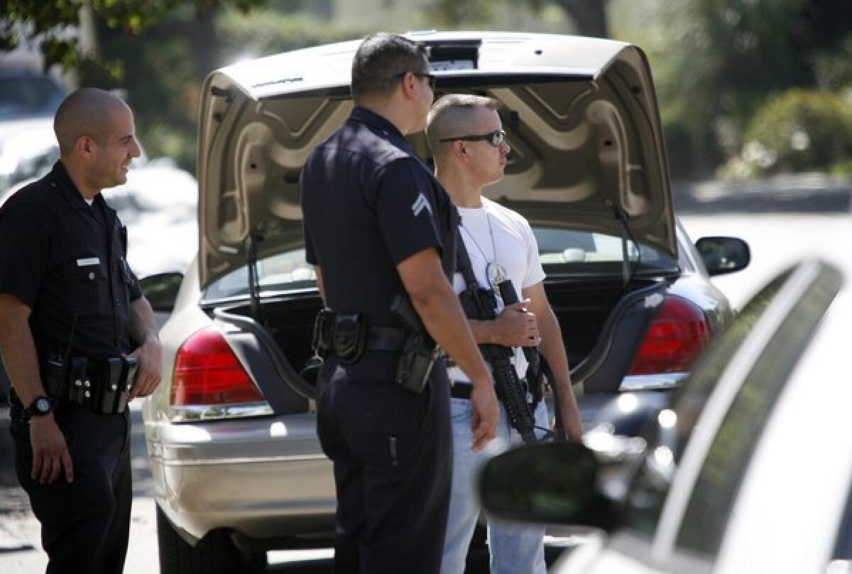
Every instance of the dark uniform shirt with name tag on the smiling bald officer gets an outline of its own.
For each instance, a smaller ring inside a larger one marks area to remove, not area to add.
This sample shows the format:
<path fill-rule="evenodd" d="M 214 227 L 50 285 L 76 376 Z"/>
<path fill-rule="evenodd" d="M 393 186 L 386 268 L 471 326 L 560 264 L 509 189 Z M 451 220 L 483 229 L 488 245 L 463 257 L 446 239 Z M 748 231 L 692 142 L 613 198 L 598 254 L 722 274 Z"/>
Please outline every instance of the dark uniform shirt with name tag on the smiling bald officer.
<path fill-rule="evenodd" d="M 89 206 L 61 161 L 0 208 L 0 293 L 32 309 L 40 357 L 132 351 L 130 302 L 141 297 L 125 260 L 126 230 L 98 194 Z"/>

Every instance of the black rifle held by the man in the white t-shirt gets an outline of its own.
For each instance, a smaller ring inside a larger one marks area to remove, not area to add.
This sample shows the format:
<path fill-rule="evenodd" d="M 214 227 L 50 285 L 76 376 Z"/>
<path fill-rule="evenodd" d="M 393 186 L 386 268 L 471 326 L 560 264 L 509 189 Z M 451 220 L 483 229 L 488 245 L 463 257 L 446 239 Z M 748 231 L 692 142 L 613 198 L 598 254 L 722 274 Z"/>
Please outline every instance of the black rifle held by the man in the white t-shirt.
<path fill-rule="evenodd" d="M 461 237 L 458 238 L 458 269 L 462 272 L 467 289 L 459 294 L 464 314 L 470 319 L 492 321 L 497 318 L 497 298 L 492 289 L 483 289 L 470 265 L 470 256 Z M 517 299 L 515 297 L 515 299 Z M 535 436 L 535 417 L 527 403 L 527 391 L 518 379 L 511 358 L 515 351 L 503 345 L 479 345 L 482 357 L 491 366 L 497 392 L 509 415 L 509 424 L 515 428 L 525 443 L 538 442 Z"/>

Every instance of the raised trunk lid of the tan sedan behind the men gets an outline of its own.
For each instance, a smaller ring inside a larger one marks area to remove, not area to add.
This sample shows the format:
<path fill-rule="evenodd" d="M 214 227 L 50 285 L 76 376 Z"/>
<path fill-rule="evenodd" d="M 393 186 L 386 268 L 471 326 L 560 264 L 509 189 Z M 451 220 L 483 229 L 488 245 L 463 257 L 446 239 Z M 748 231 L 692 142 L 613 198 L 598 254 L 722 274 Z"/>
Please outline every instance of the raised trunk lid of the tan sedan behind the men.
<path fill-rule="evenodd" d="M 533 226 L 627 235 L 676 258 L 663 134 L 641 49 L 545 34 L 410 36 L 431 48 L 436 97 L 473 91 L 503 105 L 512 153 L 489 197 Z M 205 80 L 202 288 L 251 259 L 302 246 L 299 174 L 314 146 L 352 109 L 350 67 L 359 43 L 270 56 Z M 429 159 L 423 134 L 411 139 Z"/>

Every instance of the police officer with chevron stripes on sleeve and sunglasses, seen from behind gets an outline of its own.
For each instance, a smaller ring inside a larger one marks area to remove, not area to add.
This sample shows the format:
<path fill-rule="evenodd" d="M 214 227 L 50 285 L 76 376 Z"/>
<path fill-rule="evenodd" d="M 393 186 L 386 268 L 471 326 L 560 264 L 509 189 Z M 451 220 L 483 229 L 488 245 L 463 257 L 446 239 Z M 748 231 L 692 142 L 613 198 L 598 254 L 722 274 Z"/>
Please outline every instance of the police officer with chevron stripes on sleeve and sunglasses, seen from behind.
<path fill-rule="evenodd" d="M 422 391 L 398 384 L 407 356 L 394 336 L 405 331 L 391 310 L 399 296 L 472 369 L 475 448 L 497 423 L 491 375 L 448 281 L 458 214 L 404 137 L 423 130 L 433 84 L 420 44 L 367 37 L 352 65 L 354 110 L 302 171 L 307 258 L 332 317 L 317 430 L 334 463 L 342 572 L 440 567 L 452 470 L 449 381 L 441 365 Z M 360 345 L 349 345 L 353 333 Z"/>

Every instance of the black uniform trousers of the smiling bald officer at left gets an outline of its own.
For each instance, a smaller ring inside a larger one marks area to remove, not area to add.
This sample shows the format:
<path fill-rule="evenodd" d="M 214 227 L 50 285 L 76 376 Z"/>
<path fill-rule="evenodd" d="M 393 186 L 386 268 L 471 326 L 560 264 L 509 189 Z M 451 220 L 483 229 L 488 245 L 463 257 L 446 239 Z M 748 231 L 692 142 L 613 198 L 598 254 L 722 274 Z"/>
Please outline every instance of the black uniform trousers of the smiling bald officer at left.
<path fill-rule="evenodd" d="M 47 573 L 118 574 L 124 570 L 133 499 L 129 411 L 100 415 L 60 403 L 55 420 L 71 454 L 71 484 L 64 470 L 53 484 L 33 480 L 29 426 L 20 420 L 11 426 L 15 471 L 42 524 Z"/>

